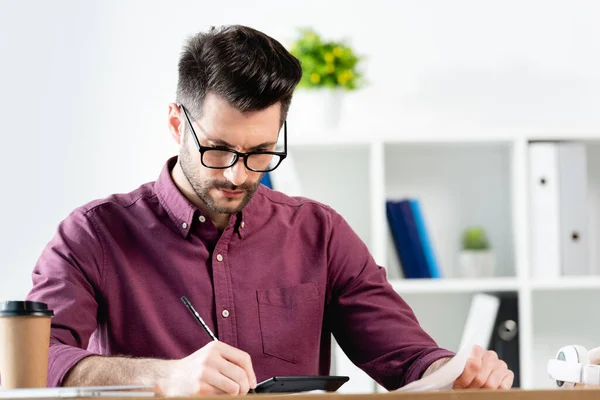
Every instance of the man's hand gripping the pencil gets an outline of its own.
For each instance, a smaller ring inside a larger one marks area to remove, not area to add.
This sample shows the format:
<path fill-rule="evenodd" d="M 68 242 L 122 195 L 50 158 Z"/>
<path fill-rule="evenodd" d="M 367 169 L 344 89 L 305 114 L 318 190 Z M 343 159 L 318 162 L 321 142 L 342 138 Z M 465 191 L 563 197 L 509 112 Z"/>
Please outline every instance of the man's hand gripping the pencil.
<path fill-rule="evenodd" d="M 158 384 L 166 396 L 245 395 L 256 387 L 248 353 L 223 342 L 211 342 L 181 360 L 170 362 Z"/>

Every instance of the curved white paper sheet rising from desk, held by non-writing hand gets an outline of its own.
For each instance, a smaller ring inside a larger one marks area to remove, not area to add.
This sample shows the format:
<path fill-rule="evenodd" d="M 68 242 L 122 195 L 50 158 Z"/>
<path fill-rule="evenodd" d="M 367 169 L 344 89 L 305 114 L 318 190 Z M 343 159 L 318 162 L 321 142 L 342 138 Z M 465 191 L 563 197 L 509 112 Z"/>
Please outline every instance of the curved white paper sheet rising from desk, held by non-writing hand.
<path fill-rule="evenodd" d="M 454 357 L 446 364 L 433 373 L 411 382 L 408 385 L 396 389 L 396 392 L 422 392 L 426 390 L 448 390 L 452 389 L 452 385 L 458 378 L 467 365 L 467 360 L 471 355 L 473 346 L 464 346 Z"/>

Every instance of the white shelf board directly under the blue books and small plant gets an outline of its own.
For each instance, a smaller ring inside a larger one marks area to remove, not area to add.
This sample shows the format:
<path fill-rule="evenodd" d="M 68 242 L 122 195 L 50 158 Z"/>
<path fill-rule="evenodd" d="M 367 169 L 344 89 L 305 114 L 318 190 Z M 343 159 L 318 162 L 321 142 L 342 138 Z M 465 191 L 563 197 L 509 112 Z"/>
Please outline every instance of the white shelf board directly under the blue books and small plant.
<path fill-rule="evenodd" d="M 394 279 L 390 280 L 390 283 L 400 294 L 510 292 L 516 291 L 520 287 L 515 278 Z"/>

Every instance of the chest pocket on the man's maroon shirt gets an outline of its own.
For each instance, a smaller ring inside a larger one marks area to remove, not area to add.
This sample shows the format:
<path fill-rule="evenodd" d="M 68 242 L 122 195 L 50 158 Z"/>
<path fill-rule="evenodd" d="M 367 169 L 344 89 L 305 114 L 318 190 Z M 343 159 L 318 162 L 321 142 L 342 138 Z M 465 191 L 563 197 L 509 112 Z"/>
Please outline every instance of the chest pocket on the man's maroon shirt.
<path fill-rule="evenodd" d="M 318 351 L 323 318 L 319 287 L 313 282 L 257 290 L 263 352 L 297 363 Z"/>

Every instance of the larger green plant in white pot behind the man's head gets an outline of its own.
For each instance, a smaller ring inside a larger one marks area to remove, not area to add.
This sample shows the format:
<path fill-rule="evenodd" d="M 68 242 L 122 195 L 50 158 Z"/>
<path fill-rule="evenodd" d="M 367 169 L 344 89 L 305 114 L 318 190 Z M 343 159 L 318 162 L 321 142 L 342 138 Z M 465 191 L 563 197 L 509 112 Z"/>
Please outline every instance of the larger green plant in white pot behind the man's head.
<path fill-rule="evenodd" d="M 338 126 L 343 94 L 364 84 L 362 57 L 345 40 L 325 40 L 312 28 L 302 28 L 290 52 L 300 60 L 302 79 L 290 112 L 300 111 L 303 123 L 334 129 Z M 300 95 L 300 96 L 297 96 Z"/>

